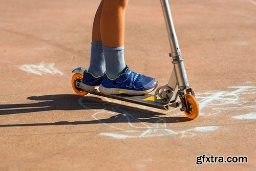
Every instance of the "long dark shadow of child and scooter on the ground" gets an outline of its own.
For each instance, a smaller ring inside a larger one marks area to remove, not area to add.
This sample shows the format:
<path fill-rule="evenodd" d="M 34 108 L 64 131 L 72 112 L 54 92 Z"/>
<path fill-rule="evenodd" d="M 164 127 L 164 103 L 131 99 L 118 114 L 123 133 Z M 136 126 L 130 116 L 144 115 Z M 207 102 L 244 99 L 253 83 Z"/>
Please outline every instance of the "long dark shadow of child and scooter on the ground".
<path fill-rule="evenodd" d="M 87 111 L 97 110 L 97 112 L 111 113 L 106 115 L 108 117 L 104 119 L 95 119 L 89 121 L 60 121 L 52 123 L 29 123 L 29 124 L 10 124 L 0 125 L 0 127 L 10 126 L 46 126 L 46 125 L 79 125 L 79 124 L 100 124 L 100 123 L 128 123 L 128 122 L 150 122 L 150 123 L 177 123 L 187 122 L 192 119 L 187 117 L 162 117 L 161 112 L 150 111 L 150 109 L 140 109 L 133 106 L 113 103 L 110 101 L 103 101 L 99 97 L 84 96 L 79 97 L 77 95 L 44 95 L 44 96 L 32 96 L 28 97 L 29 100 L 40 101 L 34 103 L 25 104 L 0 104 L 0 115 L 10 114 L 25 114 L 44 111 L 75 111 L 84 110 L 84 114 Z M 105 112 L 104 112 L 105 111 Z M 161 111 L 161 110 L 159 110 Z M 91 112 L 90 112 L 91 113 Z M 110 117 L 109 117 L 110 116 Z"/>

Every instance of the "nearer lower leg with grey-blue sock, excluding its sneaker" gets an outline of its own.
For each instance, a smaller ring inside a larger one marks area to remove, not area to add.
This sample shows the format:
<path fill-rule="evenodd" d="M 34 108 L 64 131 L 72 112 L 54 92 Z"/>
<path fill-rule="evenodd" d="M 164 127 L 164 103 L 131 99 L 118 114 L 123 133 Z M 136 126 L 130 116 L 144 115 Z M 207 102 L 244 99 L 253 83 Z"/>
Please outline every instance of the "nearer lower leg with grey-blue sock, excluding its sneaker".
<path fill-rule="evenodd" d="M 124 14 L 128 0 L 104 0 L 100 18 L 100 33 L 106 73 L 111 78 L 120 75 L 125 68 L 124 61 Z"/>

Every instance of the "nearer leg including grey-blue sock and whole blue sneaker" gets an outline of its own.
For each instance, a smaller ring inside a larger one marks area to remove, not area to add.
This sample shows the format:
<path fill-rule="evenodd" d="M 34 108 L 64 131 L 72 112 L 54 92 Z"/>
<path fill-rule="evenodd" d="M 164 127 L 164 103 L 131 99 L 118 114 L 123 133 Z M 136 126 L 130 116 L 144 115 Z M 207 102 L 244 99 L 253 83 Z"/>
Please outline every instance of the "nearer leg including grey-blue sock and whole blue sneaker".
<path fill-rule="evenodd" d="M 100 85 L 105 95 L 142 95 L 157 86 L 157 80 L 131 71 L 124 62 L 124 13 L 128 0 L 104 0 L 100 19 L 100 33 L 106 74 Z"/>

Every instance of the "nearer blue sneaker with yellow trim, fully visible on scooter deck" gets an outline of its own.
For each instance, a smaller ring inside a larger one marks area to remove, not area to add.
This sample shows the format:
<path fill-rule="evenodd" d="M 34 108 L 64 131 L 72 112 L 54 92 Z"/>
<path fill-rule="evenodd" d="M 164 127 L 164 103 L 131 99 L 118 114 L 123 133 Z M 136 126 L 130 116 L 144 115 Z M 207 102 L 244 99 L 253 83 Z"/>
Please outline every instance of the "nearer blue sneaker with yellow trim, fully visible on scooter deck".
<path fill-rule="evenodd" d="M 104 95 L 145 95 L 152 92 L 157 84 L 155 78 L 133 72 L 126 66 L 124 72 L 114 79 L 105 73 L 99 91 Z"/>

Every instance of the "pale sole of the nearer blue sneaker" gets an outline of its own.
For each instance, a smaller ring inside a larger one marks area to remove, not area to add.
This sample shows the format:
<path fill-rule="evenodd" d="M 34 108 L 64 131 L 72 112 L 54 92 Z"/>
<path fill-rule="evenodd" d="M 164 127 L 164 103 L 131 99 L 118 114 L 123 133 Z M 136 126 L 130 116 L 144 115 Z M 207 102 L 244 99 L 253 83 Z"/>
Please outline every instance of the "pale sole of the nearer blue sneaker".
<path fill-rule="evenodd" d="M 156 85 L 157 87 L 157 85 Z M 150 92 L 152 92 L 153 90 L 155 90 L 155 88 L 149 89 L 149 90 L 144 90 L 144 91 L 135 91 L 135 90 L 126 90 L 126 89 L 110 89 L 110 88 L 105 88 L 102 85 L 100 85 L 99 87 L 99 91 L 100 93 L 104 94 L 104 95 L 118 95 L 118 94 L 126 94 L 126 95 L 130 95 L 130 96 L 139 96 L 139 95 L 146 95 Z"/>

